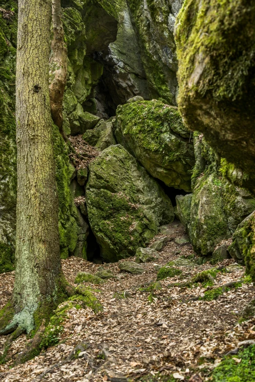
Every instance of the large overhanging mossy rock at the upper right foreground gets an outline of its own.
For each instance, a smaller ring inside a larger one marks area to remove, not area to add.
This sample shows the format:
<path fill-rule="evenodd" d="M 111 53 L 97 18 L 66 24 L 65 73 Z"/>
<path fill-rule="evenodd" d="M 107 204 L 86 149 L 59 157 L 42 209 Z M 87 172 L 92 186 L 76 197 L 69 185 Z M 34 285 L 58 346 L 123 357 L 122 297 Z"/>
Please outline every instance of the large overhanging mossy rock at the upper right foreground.
<path fill-rule="evenodd" d="M 225 175 L 255 193 L 255 4 L 189 0 L 176 23 L 179 107 L 225 158 Z"/>

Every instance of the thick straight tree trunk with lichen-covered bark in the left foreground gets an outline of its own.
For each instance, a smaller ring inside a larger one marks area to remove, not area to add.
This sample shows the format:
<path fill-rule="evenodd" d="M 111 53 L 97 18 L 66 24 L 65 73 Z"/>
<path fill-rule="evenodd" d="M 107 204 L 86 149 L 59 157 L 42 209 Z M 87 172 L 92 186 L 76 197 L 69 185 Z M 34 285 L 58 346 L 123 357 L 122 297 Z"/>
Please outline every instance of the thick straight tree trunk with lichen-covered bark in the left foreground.
<path fill-rule="evenodd" d="M 49 102 L 51 0 L 19 0 L 18 23 L 16 314 L 11 325 L 29 333 L 43 309 L 54 304 L 62 278 Z"/>

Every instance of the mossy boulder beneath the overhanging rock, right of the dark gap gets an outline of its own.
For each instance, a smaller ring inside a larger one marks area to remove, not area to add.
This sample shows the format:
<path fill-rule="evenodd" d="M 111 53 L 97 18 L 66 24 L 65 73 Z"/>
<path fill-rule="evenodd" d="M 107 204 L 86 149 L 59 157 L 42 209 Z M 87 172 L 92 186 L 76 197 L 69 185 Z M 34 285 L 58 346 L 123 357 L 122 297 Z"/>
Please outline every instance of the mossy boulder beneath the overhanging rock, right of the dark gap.
<path fill-rule="evenodd" d="M 255 210 L 255 200 L 248 191 L 224 179 L 212 149 L 198 134 L 194 137 L 194 147 L 193 193 L 177 196 L 176 202 L 194 251 L 207 256 L 220 241 L 230 238 L 237 225 Z"/>

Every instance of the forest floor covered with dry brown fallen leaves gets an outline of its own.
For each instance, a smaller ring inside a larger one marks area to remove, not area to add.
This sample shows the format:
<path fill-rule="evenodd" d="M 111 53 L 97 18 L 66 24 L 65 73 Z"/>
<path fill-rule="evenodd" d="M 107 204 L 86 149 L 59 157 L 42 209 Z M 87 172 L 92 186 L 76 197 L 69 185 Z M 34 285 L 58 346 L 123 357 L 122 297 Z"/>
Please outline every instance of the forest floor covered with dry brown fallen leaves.
<path fill-rule="evenodd" d="M 159 252 L 160 266 L 193 255 L 189 244 L 181 246 L 174 241 L 184 234 L 181 224 L 175 221 L 170 228 L 174 235 Z M 216 284 L 209 289 L 244 276 L 245 268 L 234 265 L 234 260 L 220 264 L 227 266 L 228 272 L 217 273 Z M 57 345 L 11 367 L 27 342 L 25 335 L 19 337 L 9 349 L 9 361 L 0 365 L 0 381 L 210 381 L 212 369 L 224 354 L 240 341 L 255 339 L 255 319 L 238 323 L 255 287 L 243 283 L 212 301 L 202 300 L 208 289 L 202 284 L 169 287 L 173 281 L 187 281 L 212 268 L 206 263 L 180 266 L 181 276 L 160 281 L 161 289 L 149 290 L 149 282 L 156 281 L 158 265 L 142 264 L 144 273 L 133 275 L 121 273 L 118 263 L 104 264 L 116 278 L 101 285 L 86 284 L 95 290 L 104 310 L 95 314 L 88 307 L 72 307 Z M 63 260 L 62 266 L 67 281 L 74 285 L 79 271 L 94 274 L 100 265 L 71 257 Z M 14 272 L 0 275 L 0 308 L 11 295 L 13 282 Z M 6 337 L 0 337 L 0 353 L 5 341 Z M 85 351 L 76 359 L 67 359 L 82 342 Z"/>

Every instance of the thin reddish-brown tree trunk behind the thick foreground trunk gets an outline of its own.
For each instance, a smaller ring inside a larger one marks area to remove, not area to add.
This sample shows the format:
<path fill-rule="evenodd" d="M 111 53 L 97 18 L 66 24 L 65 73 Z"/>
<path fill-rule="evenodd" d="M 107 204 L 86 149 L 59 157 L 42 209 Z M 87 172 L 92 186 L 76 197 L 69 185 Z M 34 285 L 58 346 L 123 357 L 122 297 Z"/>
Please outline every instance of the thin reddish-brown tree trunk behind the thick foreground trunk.
<path fill-rule="evenodd" d="M 61 135 L 63 131 L 63 97 L 67 76 L 67 48 L 64 42 L 64 29 L 61 21 L 61 2 L 52 0 L 52 24 L 53 39 L 50 53 L 50 110 L 54 123 L 59 127 Z"/>

